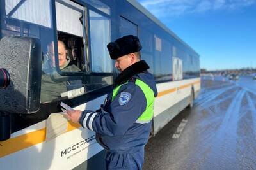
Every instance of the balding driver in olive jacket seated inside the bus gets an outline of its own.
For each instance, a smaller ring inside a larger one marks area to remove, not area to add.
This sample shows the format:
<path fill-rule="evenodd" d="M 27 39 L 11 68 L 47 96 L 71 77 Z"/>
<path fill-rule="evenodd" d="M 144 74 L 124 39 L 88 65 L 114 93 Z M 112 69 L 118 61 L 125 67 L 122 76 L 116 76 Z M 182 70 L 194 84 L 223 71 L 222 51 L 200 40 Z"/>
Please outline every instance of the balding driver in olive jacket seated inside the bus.
<path fill-rule="evenodd" d="M 66 42 L 61 39 L 58 40 L 58 54 L 54 55 L 54 45 L 51 42 L 48 45 L 48 51 L 46 55 L 46 64 L 42 66 L 42 84 L 41 84 L 41 102 L 52 101 L 61 96 L 64 92 L 68 90 L 75 90 L 76 93 L 70 94 L 68 97 L 74 97 L 79 94 L 83 94 L 85 91 L 85 86 L 83 85 L 82 79 L 79 76 L 61 76 L 56 71 L 56 57 L 58 57 L 58 66 L 61 71 L 66 72 L 81 72 L 81 69 L 76 65 L 75 55 L 72 55 Z M 73 63 L 74 62 L 74 63 Z M 67 96 L 67 95 L 66 95 Z M 65 97 L 65 96 L 61 96 Z"/>

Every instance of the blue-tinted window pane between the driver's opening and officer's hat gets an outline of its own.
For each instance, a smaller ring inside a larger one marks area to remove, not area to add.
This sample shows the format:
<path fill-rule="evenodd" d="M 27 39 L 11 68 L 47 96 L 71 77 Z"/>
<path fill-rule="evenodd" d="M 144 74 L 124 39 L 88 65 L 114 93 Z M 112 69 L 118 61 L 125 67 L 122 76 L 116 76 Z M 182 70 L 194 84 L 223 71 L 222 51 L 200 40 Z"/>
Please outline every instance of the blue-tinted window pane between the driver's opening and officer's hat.
<path fill-rule="evenodd" d="M 110 16 L 89 10 L 90 20 L 90 68 L 93 73 L 112 73 L 112 61 L 106 47 L 111 41 Z M 113 76 L 90 76 L 86 78 L 88 90 L 99 89 L 113 83 Z"/>

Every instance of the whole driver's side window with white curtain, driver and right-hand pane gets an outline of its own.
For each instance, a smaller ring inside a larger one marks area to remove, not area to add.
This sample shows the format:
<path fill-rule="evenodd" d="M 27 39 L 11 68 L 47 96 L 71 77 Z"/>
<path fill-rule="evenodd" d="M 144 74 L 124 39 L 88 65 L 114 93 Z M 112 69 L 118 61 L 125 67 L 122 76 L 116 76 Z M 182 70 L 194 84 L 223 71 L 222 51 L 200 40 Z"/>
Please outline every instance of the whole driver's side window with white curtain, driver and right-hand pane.
<path fill-rule="evenodd" d="M 108 15 L 100 15 L 93 11 L 95 9 L 90 10 L 72 1 L 56 1 L 55 4 L 58 43 L 54 46 L 49 42 L 44 55 L 42 103 L 62 97 L 71 99 L 113 83 L 112 76 L 104 76 L 104 73 L 112 72 L 106 48 L 110 41 Z M 88 20 L 90 29 L 87 29 Z M 57 55 L 54 55 L 54 47 L 58 48 Z M 90 73 L 103 73 L 103 76 L 90 76 Z"/>

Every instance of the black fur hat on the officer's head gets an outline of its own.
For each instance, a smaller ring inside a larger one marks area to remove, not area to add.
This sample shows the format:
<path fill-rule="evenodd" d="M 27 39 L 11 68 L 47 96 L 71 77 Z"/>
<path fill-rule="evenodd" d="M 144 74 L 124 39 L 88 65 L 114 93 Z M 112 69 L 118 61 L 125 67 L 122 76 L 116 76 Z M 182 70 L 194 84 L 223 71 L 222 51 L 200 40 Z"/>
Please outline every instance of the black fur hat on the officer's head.
<path fill-rule="evenodd" d="M 129 53 L 138 52 L 142 49 L 140 41 L 136 36 L 123 36 L 107 45 L 111 59 L 115 60 Z"/>

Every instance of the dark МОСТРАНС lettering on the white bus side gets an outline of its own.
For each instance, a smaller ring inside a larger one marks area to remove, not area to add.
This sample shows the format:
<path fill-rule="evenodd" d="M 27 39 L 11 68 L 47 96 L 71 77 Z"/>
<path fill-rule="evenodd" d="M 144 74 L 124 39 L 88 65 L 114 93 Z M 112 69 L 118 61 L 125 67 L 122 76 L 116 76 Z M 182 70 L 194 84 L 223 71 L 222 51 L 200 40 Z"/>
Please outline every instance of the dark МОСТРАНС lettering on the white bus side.
<path fill-rule="evenodd" d="M 79 148 L 82 148 L 84 145 L 86 145 L 86 143 L 92 143 L 92 141 L 95 140 L 95 135 L 93 134 L 92 136 L 86 138 L 86 139 L 83 139 L 82 141 L 79 141 L 78 143 L 72 145 L 72 146 L 69 146 L 68 148 L 66 148 L 65 150 L 61 150 L 61 157 L 63 155 L 67 155 L 68 153 L 72 153 L 72 152 L 75 152 L 77 151 Z"/>

